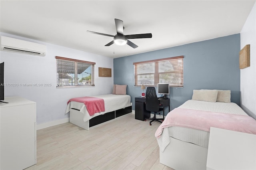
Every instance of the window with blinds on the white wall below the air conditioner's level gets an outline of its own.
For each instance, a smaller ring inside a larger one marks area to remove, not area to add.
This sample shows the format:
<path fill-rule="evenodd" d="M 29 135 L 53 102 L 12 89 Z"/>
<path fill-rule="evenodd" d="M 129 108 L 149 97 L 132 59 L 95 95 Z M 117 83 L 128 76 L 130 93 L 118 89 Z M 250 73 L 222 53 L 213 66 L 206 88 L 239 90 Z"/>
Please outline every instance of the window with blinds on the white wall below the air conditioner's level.
<path fill-rule="evenodd" d="M 94 86 L 94 62 L 56 56 L 57 87 Z"/>

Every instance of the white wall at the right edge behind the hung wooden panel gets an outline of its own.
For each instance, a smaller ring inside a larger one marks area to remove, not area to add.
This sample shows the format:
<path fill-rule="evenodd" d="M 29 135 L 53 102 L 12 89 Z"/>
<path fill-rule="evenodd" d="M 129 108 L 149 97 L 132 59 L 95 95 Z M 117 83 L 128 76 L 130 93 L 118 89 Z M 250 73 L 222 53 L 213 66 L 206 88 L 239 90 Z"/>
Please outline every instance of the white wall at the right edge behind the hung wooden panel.
<path fill-rule="evenodd" d="M 240 70 L 241 107 L 256 119 L 256 4 L 240 35 L 241 49 L 250 44 L 250 67 Z"/>

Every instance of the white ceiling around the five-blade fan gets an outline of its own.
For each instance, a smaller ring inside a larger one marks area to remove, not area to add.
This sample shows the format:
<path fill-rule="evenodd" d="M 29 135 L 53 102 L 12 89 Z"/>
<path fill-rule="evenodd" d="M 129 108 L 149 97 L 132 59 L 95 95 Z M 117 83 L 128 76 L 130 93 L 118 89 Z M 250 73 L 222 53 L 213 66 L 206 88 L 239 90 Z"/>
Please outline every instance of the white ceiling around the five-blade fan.
<path fill-rule="evenodd" d="M 255 0 L 1 0 L 0 31 L 107 57 L 122 57 L 240 33 Z M 152 33 L 106 47 L 116 35 Z"/>

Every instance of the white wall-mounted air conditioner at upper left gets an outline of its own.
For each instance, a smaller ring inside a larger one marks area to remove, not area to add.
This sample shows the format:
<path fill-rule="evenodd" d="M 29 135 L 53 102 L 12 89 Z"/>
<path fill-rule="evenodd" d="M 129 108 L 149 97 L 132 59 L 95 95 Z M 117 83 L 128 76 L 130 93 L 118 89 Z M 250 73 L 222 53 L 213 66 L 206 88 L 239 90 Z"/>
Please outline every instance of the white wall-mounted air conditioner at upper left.
<path fill-rule="evenodd" d="M 30 55 L 45 56 L 46 45 L 1 36 L 1 50 Z"/>

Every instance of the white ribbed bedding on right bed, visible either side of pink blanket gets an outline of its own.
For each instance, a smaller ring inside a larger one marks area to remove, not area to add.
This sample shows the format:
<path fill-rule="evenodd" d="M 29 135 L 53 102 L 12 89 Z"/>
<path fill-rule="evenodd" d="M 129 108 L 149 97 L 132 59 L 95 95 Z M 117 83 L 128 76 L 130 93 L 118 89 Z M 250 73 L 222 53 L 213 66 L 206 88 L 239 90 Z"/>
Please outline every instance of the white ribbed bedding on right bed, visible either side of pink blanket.
<path fill-rule="evenodd" d="M 188 100 L 180 107 L 182 109 L 194 109 L 198 111 L 211 111 L 219 113 L 229 113 L 236 115 L 247 115 L 236 103 L 207 102 Z M 170 136 L 185 142 L 190 142 L 208 148 L 209 132 L 185 127 L 164 128 L 161 141 L 158 141 L 161 150 L 170 143 Z"/>

